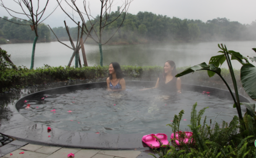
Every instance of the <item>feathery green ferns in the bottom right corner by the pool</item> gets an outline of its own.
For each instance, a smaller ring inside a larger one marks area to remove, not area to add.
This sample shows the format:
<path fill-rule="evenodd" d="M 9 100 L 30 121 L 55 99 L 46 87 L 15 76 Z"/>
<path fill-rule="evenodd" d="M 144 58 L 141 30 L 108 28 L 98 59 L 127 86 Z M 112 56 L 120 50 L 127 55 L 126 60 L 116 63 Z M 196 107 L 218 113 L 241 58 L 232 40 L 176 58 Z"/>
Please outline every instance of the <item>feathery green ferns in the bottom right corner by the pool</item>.
<path fill-rule="evenodd" d="M 256 148 L 254 146 L 256 124 L 249 115 L 249 132 L 247 136 L 244 136 L 237 133 L 239 128 L 243 128 L 239 125 L 237 116 L 234 116 L 230 123 L 223 121 L 222 127 L 216 123 L 212 129 L 210 127 L 211 120 L 210 125 L 207 125 L 205 116 L 201 125 L 201 117 L 208 107 L 197 113 L 196 106 L 195 103 L 192 107 L 190 125 L 188 125 L 193 132 L 189 144 L 183 143 L 180 146 L 162 145 L 160 150 L 154 150 L 159 158 L 256 158 Z M 182 110 L 179 116 L 182 116 L 183 113 Z M 178 117 L 176 116 L 176 118 Z M 179 119 L 181 120 L 182 117 Z M 178 126 L 179 121 L 173 122 L 172 130 L 175 131 Z M 184 136 L 181 135 L 181 137 Z M 157 158 L 155 155 L 153 156 Z"/>

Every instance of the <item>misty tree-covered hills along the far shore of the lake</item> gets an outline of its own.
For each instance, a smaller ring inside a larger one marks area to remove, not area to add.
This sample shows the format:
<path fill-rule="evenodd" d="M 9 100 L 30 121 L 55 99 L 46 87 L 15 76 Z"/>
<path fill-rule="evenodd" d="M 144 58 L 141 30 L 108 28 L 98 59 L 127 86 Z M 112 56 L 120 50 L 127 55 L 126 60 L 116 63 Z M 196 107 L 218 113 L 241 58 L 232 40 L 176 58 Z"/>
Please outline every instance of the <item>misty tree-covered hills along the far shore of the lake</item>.
<path fill-rule="evenodd" d="M 114 12 L 111 14 L 114 14 Z M 122 14 L 122 16 L 124 16 L 124 14 Z M 99 17 L 96 17 L 96 19 L 98 18 Z M 112 16 L 112 19 L 115 18 L 115 15 Z M 25 21 L 14 18 L 11 20 L 26 23 Z M 111 19 L 109 19 L 109 21 L 111 21 Z M 92 23 L 94 24 L 95 21 L 92 21 Z M 107 25 L 104 28 L 103 37 L 105 37 L 105 39 L 111 37 L 120 24 L 121 19 L 118 19 L 110 25 Z M 87 22 L 87 26 L 90 28 L 89 22 Z M 97 28 L 97 23 L 95 28 Z M 38 30 L 40 32 L 39 41 L 48 42 L 56 40 L 54 34 L 45 24 L 41 24 Z M 68 40 L 65 27 L 53 28 L 53 31 L 60 40 Z M 77 27 L 69 28 L 69 32 L 75 41 L 77 38 Z M 31 31 L 30 26 L 17 25 L 0 19 L 0 41 L 3 43 L 6 41 L 4 39 L 8 39 L 12 42 L 33 42 L 34 32 Z M 136 15 L 128 13 L 123 25 L 108 44 L 218 40 L 256 40 L 256 21 L 252 22 L 250 25 L 243 25 L 237 21 L 229 21 L 229 19 L 226 18 L 217 18 L 202 22 L 202 20 L 182 20 L 148 12 L 139 12 Z M 90 39 L 88 39 L 88 42 L 94 43 L 94 41 Z"/>

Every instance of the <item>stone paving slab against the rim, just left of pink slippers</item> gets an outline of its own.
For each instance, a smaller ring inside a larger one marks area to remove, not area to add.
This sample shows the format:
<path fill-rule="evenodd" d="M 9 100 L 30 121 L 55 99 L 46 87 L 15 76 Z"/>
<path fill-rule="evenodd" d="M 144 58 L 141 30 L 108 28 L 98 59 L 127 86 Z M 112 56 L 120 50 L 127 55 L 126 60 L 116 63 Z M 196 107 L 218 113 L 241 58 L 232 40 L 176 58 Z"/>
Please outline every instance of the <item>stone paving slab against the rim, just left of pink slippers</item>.
<path fill-rule="evenodd" d="M 140 151 L 118 151 L 118 150 L 102 150 L 99 154 L 117 156 L 121 158 L 136 158 L 141 154 Z"/>

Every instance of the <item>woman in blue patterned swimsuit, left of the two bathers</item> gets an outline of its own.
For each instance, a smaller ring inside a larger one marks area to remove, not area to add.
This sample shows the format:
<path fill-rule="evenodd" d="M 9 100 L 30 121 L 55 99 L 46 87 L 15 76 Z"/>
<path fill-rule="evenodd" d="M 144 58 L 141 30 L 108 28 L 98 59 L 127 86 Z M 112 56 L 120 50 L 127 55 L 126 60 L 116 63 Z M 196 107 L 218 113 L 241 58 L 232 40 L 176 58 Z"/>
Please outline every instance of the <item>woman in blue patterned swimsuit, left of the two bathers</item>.
<path fill-rule="evenodd" d="M 125 90 L 125 80 L 119 63 L 112 62 L 109 64 L 109 77 L 107 78 L 108 90 L 117 91 Z"/>

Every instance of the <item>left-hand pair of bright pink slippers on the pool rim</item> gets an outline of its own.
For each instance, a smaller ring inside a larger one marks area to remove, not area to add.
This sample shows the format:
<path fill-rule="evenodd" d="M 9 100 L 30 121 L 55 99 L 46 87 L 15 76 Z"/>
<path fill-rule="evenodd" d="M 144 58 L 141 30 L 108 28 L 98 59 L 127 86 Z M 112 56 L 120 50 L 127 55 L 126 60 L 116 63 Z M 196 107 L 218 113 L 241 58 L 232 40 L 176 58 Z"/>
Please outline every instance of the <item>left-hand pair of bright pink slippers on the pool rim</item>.
<path fill-rule="evenodd" d="M 162 142 L 162 145 L 169 145 L 168 137 L 164 133 L 144 135 L 142 141 L 151 148 L 160 148 L 160 143 L 154 136 Z"/>

